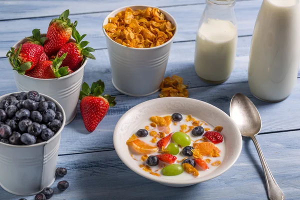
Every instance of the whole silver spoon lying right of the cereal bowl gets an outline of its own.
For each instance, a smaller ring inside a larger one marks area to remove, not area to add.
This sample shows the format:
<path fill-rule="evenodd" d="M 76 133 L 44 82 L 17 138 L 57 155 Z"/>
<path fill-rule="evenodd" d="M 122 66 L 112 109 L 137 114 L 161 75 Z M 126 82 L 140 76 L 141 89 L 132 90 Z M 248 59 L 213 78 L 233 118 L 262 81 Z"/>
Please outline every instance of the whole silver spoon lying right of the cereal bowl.
<path fill-rule="evenodd" d="M 268 168 L 258 141 L 255 138 L 261 129 L 261 118 L 252 101 L 241 93 L 235 94 L 230 102 L 230 117 L 238 126 L 242 136 L 250 137 L 255 144 L 263 168 L 267 194 L 270 200 L 284 200 L 284 194 Z"/>

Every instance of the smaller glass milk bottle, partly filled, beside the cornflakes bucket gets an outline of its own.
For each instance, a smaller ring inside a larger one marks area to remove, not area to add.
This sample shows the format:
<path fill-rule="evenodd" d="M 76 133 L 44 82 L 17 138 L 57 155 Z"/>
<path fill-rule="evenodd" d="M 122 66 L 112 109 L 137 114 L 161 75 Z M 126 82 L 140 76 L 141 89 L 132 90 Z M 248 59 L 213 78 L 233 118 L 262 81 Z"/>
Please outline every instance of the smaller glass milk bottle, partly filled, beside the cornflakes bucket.
<path fill-rule="evenodd" d="M 206 0 L 196 35 L 194 66 L 206 82 L 222 83 L 234 66 L 237 27 L 235 0 Z"/>

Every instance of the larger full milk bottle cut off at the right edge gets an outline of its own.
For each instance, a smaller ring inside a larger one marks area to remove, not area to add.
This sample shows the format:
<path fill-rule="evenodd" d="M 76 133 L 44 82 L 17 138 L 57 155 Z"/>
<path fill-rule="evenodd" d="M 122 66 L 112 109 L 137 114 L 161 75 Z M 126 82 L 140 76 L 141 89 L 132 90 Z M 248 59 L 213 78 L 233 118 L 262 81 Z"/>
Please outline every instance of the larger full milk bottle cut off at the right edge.
<path fill-rule="evenodd" d="M 300 55 L 298 0 L 263 0 L 257 15 L 248 67 L 249 87 L 265 101 L 281 101 L 291 93 Z"/>

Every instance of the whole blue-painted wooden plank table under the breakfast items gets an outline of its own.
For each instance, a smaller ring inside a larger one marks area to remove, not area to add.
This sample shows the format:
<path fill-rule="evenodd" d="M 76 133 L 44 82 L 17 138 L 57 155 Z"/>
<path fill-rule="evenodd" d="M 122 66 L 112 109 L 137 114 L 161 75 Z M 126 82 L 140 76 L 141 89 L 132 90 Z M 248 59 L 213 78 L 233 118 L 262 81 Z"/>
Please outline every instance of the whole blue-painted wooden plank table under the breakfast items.
<path fill-rule="evenodd" d="M 253 143 L 243 139 L 236 163 L 224 174 L 197 185 L 172 188 L 147 180 L 127 168 L 116 155 L 112 133 L 120 116 L 132 106 L 158 97 L 130 97 L 119 93 L 111 83 L 111 72 L 102 32 L 102 21 L 113 9 L 132 4 L 158 6 L 172 14 L 178 34 L 172 45 L 166 76 L 177 74 L 188 84 L 190 98 L 211 103 L 229 113 L 233 94 L 246 94 L 257 106 L 263 127 L 257 139 L 269 168 L 285 194 L 285 199 L 300 199 L 300 78 L 292 94 L 283 102 L 266 103 L 254 98 L 247 83 L 248 55 L 256 15 L 262 0 L 237 0 L 238 47 L 230 78 L 220 85 L 201 81 L 193 67 L 195 33 L 205 0 L 1 0 L 0 1 L 0 95 L 16 91 L 12 70 L 5 54 L 33 28 L 46 32 L 49 21 L 63 10 L 70 10 L 78 31 L 95 48 L 96 60 L 88 60 L 84 81 L 102 79 L 106 92 L 116 96 L 117 104 L 108 110 L 97 129 L 88 133 L 79 107 L 75 119 L 61 135 L 58 166 L 67 167 L 63 178 L 69 188 L 51 199 L 267 199 L 262 168 Z M 299 77 L 299 76 L 298 76 Z M 1 170 L 1 169 L 0 169 Z M 0 188 L 0 199 L 19 199 Z M 34 196 L 26 197 L 28 200 Z"/>

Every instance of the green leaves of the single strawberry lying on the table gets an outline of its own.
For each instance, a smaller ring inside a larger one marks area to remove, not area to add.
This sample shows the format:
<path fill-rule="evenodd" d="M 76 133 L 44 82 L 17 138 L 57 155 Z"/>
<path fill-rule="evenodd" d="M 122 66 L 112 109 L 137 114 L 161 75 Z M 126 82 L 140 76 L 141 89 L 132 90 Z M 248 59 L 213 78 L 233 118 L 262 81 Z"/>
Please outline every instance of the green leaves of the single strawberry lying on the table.
<path fill-rule="evenodd" d="M 105 98 L 110 107 L 113 107 L 115 102 L 115 96 L 110 96 L 108 94 L 101 95 L 104 91 L 104 82 L 102 80 L 97 80 L 91 84 L 91 87 L 88 86 L 86 82 L 82 84 L 82 90 L 80 91 L 79 99 L 81 100 L 84 96 L 101 96 Z"/>

